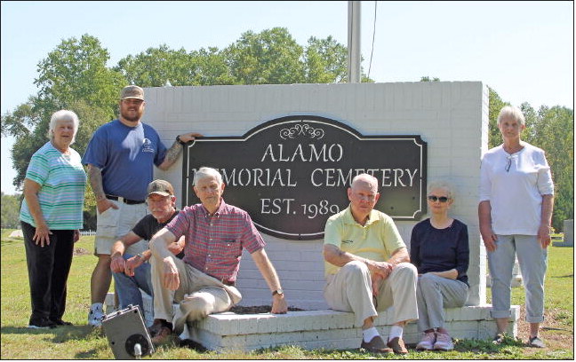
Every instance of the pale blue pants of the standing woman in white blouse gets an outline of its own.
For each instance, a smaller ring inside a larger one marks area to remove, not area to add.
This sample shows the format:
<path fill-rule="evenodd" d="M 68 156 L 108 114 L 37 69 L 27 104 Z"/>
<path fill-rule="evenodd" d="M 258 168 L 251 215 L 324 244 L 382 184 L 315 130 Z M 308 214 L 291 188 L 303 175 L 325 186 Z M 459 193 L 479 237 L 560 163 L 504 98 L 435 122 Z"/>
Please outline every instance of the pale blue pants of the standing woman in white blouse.
<path fill-rule="evenodd" d="M 496 235 L 496 250 L 488 252 L 492 278 L 492 318 L 510 317 L 510 290 L 514 255 L 524 279 L 526 321 L 544 321 L 544 276 L 548 249 L 542 248 L 536 235 Z"/>

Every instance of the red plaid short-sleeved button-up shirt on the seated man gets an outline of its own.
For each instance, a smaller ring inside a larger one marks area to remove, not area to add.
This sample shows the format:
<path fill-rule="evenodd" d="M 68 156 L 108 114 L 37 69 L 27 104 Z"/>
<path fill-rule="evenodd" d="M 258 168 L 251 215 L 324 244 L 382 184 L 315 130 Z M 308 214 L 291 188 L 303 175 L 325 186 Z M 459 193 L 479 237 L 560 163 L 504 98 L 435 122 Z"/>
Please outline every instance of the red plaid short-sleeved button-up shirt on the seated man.
<path fill-rule="evenodd" d="M 186 236 L 184 263 L 228 282 L 236 281 L 243 248 L 252 254 L 266 246 L 250 215 L 224 200 L 212 216 L 202 204 L 188 206 L 166 228 L 176 240 Z"/>

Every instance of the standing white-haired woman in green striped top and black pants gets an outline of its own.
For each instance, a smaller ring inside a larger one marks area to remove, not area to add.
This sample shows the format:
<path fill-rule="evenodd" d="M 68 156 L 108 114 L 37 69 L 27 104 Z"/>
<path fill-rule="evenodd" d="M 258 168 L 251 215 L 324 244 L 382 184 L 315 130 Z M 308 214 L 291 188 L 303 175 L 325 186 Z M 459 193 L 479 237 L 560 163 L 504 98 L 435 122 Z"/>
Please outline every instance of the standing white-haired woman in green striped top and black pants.
<path fill-rule="evenodd" d="M 32 315 L 28 327 L 69 325 L 62 320 L 74 243 L 83 224 L 86 174 L 70 148 L 78 116 L 52 114 L 48 138 L 30 160 L 24 179 L 20 224 L 24 234 Z"/>

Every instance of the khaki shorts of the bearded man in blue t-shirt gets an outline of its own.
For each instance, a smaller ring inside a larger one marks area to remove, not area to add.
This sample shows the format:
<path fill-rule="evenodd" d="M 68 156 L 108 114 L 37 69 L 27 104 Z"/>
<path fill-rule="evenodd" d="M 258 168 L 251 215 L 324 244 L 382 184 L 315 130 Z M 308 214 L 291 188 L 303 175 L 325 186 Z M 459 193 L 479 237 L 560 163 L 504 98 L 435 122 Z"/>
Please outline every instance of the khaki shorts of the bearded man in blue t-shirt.
<path fill-rule="evenodd" d="M 128 205 L 110 200 L 118 209 L 110 208 L 103 213 L 96 210 L 97 225 L 94 239 L 94 255 L 110 255 L 112 246 L 132 230 L 140 219 L 148 213 L 146 203 Z M 148 241 L 140 240 L 126 249 L 126 253 L 136 255 L 148 249 Z"/>

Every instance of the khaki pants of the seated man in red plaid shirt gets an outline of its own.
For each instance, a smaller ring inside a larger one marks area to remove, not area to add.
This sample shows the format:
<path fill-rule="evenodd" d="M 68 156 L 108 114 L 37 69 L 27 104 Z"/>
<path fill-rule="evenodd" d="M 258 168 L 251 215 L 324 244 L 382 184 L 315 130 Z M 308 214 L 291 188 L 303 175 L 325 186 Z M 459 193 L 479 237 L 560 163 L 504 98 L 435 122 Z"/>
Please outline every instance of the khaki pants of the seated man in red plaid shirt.
<path fill-rule="evenodd" d="M 180 311 L 188 316 L 189 322 L 203 319 L 208 314 L 228 311 L 242 299 L 236 287 L 222 284 L 175 256 L 172 259 L 180 276 L 180 287 L 175 291 L 163 286 L 163 260 L 154 255 L 150 258 L 155 319 L 172 321 L 172 301 L 180 303 Z"/>

